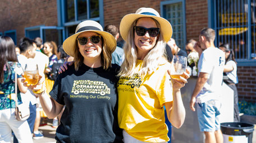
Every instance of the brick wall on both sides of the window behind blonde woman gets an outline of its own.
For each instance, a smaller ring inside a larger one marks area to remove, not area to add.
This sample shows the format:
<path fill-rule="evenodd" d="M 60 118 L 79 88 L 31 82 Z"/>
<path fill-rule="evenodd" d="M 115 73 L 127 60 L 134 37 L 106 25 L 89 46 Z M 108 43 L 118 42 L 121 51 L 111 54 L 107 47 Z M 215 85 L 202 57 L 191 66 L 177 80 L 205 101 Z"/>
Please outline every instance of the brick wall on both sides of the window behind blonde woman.
<path fill-rule="evenodd" d="M 119 27 L 122 17 L 135 13 L 140 7 L 151 7 L 160 13 L 161 1 L 112 1 L 104 0 L 104 25 Z M 198 40 L 199 32 L 208 26 L 208 5 L 206 0 L 186 0 L 186 38 Z"/>

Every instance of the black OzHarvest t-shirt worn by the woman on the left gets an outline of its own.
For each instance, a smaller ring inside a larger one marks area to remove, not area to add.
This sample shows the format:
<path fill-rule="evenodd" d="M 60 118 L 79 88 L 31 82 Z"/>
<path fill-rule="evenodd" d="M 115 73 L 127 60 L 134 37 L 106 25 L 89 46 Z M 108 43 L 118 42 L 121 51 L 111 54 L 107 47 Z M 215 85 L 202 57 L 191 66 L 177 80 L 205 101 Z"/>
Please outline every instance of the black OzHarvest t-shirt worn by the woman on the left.
<path fill-rule="evenodd" d="M 118 68 L 112 65 L 104 70 L 83 64 L 75 71 L 73 64 L 58 75 L 49 93 L 66 106 L 56 130 L 58 142 L 122 142 L 117 122 Z"/>

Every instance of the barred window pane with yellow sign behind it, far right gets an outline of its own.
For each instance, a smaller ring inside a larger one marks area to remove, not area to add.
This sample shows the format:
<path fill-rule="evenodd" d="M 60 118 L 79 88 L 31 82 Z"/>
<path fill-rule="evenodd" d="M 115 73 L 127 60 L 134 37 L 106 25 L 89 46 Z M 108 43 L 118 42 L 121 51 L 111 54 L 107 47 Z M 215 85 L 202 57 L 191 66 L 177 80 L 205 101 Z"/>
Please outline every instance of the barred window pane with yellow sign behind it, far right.
<path fill-rule="evenodd" d="M 244 0 L 218 0 L 217 46 L 230 44 L 236 59 L 248 59 L 248 3 Z"/>

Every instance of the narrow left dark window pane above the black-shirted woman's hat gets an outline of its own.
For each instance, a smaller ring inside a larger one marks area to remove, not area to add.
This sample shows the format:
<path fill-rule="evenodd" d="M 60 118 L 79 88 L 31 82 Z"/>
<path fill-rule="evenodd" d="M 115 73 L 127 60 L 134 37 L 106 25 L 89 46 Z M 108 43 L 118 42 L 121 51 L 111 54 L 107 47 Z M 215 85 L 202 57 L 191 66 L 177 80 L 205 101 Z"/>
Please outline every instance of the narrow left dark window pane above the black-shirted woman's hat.
<path fill-rule="evenodd" d="M 66 0 L 66 22 L 75 21 L 74 0 Z"/>

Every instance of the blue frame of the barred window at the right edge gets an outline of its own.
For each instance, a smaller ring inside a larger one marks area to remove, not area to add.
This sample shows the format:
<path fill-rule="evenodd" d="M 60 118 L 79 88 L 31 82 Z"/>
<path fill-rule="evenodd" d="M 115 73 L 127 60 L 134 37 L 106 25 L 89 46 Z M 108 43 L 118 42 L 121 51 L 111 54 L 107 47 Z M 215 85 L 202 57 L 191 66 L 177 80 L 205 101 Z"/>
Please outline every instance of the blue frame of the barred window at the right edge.
<path fill-rule="evenodd" d="M 251 0 L 247 0 L 248 3 L 251 3 Z M 251 5 L 248 4 L 248 9 L 251 9 Z M 248 28 L 248 46 L 246 47 L 248 58 L 247 59 L 236 59 L 237 66 L 256 66 L 256 60 L 252 59 L 252 20 L 251 20 L 251 11 L 248 11 L 247 16 L 247 28 Z M 217 36 L 217 8 L 215 0 L 208 0 L 208 25 L 216 31 Z M 214 44 L 217 45 L 217 40 L 214 40 Z"/>

